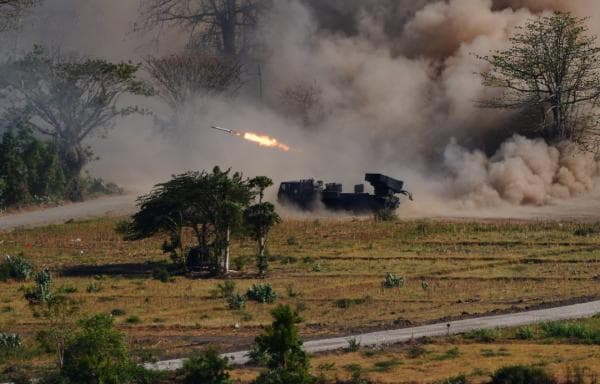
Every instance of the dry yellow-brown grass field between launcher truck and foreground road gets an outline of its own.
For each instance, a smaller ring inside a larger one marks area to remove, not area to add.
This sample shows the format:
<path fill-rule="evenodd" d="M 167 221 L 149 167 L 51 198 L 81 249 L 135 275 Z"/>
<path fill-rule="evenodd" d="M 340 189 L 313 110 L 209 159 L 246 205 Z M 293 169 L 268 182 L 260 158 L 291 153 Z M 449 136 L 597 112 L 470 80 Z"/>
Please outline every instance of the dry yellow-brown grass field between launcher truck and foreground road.
<path fill-rule="evenodd" d="M 23 252 L 36 267 L 50 268 L 54 287 L 82 300 L 81 315 L 121 310 L 117 323 L 134 350 L 146 350 L 146 359 L 181 356 L 205 344 L 239 349 L 270 321 L 272 305 L 249 302 L 235 311 L 214 298 L 221 280 L 153 279 L 153 269 L 167 260 L 160 251 L 163 239 L 122 241 L 116 223 L 96 219 L 0 233 L 0 254 Z M 268 248 L 270 272 L 260 280 L 252 260 L 255 244 L 236 239 L 232 256 L 246 258 L 247 265 L 232 280 L 241 293 L 253 283 L 271 283 L 278 303 L 301 311 L 304 338 L 600 297 L 600 226 L 593 224 L 287 220 L 274 229 Z M 403 276 L 406 285 L 382 290 L 388 272 Z M 32 337 L 43 327 L 23 299 L 23 287 L 30 284 L 0 282 L 2 331 Z M 427 356 L 446 347 L 435 344 Z M 483 348 L 459 346 L 463 356 Z M 517 359 L 530 355 L 527 348 L 543 355 L 545 347 L 506 348 Z M 323 356 L 313 366 L 359 355 Z M 423 364 L 419 369 L 427 371 L 427 364 L 438 363 Z M 408 365 L 393 372 L 421 380 L 419 369 L 405 371 L 413 369 Z"/>

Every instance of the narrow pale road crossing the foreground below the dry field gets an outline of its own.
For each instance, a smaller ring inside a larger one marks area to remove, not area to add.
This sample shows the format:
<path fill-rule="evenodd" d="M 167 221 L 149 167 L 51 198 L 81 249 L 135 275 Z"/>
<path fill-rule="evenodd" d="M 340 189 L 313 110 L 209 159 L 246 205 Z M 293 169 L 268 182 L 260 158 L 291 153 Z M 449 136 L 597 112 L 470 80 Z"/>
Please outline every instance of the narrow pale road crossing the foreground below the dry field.
<path fill-rule="evenodd" d="M 361 346 L 395 344 L 423 336 L 443 336 L 448 333 L 465 333 L 474 329 L 516 327 L 545 321 L 578 319 L 591 317 L 597 313 L 600 313 L 600 300 L 563 307 L 453 321 L 450 323 L 450 328 L 447 326 L 448 323 L 437 323 L 420 327 L 363 333 L 347 337 L 312 340 L 304 343 L 304 349 L 311 353 L 339 350 L 346 348 L 348 340 L 353 338 L 360 341 Z M 233 363 L 238 365 L 246 364 L 249 361 L 248 351 L 226 353 L 223 356 L 231 358 Z M 146 365 L 147 368 L 161 371 L 172 371 L 181 368 L 181 366 L 181 359 L 160 361 L 155 364 Z"/>

